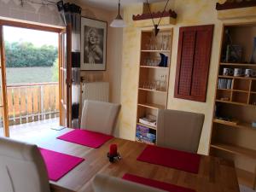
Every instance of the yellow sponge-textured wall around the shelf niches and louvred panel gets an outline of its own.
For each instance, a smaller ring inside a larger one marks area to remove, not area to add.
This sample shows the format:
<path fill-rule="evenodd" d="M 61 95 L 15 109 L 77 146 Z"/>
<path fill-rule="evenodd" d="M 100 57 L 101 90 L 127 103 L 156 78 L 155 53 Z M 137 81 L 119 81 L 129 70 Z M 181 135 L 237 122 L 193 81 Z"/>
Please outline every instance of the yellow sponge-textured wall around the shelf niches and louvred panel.
<path fill-rule="evenodd" d="M 173 0 L 169 8 L 177 12 L 177 24 L 173 28 L 172 59 L 169 79 L 167 108 L 195 113 L 205 113 L 205 123 L 202 130 L 199 153 L 207 154 L 211 137 L 212 111 L 218 71 L 218 57 L 222 37 L 223 21 L 218 20 L 215 9 L 217 0 Z M 224 2 L 224 1 L 222 1 Z M 152 5 L 154 10 L 162 10 L 165 3 Z M 143 5 L 131 5 L 125 8 L 125 20 L 129 24 L 124 30 L 122 84 L 121 84 L 121 116 L 119 137 L 134 140 L 137 113 L 137 82 L 139 72 L 140 29 L 134 26 L 131 15 L 141 14 Z M 253 19 L 225 20 L 226 23 L 248 22 Z M 255 19 L 254 19 L 255 20 Z M 207 102 L 192 102 L 174 98 L 174 84 L 177 62 L 177 43 L 180 26 L 197 26 L 214 24 L 212 38 L 212 55 L 207 86 Z"/>

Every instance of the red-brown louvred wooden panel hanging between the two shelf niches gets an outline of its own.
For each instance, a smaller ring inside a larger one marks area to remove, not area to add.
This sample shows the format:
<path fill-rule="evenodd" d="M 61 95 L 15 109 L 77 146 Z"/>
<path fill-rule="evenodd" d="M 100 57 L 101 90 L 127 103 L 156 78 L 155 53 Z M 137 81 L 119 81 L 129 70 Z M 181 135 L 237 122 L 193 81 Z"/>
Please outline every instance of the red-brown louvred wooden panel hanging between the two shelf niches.
<path fill-rule="evenodd" d="M 179 29 L 174 96 L 206 102 L 213 25 Z"/>

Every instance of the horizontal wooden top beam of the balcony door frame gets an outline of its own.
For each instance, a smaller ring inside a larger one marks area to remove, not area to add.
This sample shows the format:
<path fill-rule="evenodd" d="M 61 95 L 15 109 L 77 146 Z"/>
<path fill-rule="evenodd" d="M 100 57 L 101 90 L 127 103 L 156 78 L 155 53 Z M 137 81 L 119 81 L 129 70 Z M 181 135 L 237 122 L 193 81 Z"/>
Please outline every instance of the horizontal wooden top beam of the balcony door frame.
<path fill-rule="evenodd" d="M 18 22 L 14 20 L 0 20 L 0 26 L 15 26 L 15 27 L 21 27 L 21 28 L 27 28 L 27 29 L 35 29 L 39 31 L 45 31 L 45 32 L 61 32 L 63 29 L 53 27 L 53 26 L 44 26 L 42 25 L 36 25 L 26 22 Z M 64 28 L 64 27 L 63 27 Z"/>

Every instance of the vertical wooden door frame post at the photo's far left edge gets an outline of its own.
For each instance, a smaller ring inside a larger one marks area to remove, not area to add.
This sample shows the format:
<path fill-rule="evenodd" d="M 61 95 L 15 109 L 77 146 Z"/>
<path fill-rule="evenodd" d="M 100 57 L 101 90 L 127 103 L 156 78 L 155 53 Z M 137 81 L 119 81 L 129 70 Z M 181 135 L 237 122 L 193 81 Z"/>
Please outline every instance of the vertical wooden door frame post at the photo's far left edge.
<path fill-rule="evenodd" d="M 6 88 L 6 73 L 5 73 L 5 54 L 3 42 L 3 26 L 0 25 L 0 55 L 1 55 L 1 74 L 2 74 L 2 105 L 3 105 L 3 133 L 5 137 L 9 137 L 9 115 L 7 102 Z"/>

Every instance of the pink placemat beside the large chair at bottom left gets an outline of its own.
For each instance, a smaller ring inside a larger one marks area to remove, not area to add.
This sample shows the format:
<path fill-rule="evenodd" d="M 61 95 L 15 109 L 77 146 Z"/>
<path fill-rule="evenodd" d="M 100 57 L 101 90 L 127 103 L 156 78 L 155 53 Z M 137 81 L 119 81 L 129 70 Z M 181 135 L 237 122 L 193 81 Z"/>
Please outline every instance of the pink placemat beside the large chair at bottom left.
<path fill-rule="evenodd" d="M 84 160 L 83 158 L 61 154 L 45 148 L 39 148 L 39 150 L 44 158 L 49 180 L 51 181 L 58 181 Z"/>

